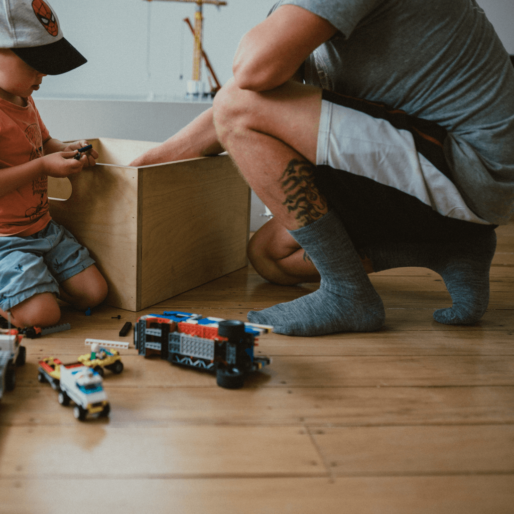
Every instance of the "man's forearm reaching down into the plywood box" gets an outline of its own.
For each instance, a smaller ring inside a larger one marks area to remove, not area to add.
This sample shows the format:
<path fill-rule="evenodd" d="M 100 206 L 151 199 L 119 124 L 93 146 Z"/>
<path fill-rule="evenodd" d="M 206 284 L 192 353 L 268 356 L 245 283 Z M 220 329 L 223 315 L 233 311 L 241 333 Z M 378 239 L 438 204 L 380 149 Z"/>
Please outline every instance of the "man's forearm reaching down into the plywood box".
<path fill-rule="evenodd" d="M 212 107 L 163 143 L 134 159 L 130 166 L 146 166 L 224 152 L 212 122 Z"/>

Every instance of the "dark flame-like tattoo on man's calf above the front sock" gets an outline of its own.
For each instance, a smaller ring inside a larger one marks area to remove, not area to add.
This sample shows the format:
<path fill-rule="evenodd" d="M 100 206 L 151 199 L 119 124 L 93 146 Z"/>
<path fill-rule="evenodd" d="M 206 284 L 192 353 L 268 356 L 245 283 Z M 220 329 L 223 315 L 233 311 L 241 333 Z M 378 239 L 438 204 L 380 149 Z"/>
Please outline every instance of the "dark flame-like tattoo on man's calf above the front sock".
<path fill-rule="evenodd" d="M 280 177 L 285 201 L 282 205 L 294 212 L 300 227 L 314 223 L 323 215 L 326 200 L 314 182 L 316 166 L 308 160 L 292 159 Z"/>

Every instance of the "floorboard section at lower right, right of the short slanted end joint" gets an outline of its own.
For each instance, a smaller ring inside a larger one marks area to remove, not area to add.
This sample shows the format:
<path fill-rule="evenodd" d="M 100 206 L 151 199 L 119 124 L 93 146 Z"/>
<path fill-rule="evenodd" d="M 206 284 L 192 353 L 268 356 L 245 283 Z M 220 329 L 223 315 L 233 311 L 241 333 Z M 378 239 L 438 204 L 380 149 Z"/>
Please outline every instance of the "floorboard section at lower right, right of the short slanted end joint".
<path fill-rule="evenodd" d="M 514 473 L 512 425 L 322 428 L 312 434 L 337 476 Z"/>

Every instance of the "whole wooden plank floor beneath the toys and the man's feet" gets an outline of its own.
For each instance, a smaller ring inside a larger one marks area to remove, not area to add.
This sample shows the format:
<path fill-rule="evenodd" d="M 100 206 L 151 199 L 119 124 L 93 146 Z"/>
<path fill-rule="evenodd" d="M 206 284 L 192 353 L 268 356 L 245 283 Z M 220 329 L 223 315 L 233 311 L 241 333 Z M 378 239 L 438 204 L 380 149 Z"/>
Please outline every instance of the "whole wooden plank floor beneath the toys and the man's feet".
<path fill-rule="evenodd" d="M 36 379 L 38 359 L 75 360 L 86 337 L 122 339 L 142 314 L 245 320 L 316 285 L 275 286 L 245 268 L 137 314 L 65 309 L 71 331 L 26 341 L 27 363 L 0 403 L 0 511 L 512 514 L 514 225 L 497 233 L 477 326 L 433 321 L 451 304 L 437 274 L 377 273 L 380 332 L 263 336 L 257 349 L 272 363 L 243 390 L 131 344 L 125 370 L 106 372 L 108 419 L 75 420 Z"/>

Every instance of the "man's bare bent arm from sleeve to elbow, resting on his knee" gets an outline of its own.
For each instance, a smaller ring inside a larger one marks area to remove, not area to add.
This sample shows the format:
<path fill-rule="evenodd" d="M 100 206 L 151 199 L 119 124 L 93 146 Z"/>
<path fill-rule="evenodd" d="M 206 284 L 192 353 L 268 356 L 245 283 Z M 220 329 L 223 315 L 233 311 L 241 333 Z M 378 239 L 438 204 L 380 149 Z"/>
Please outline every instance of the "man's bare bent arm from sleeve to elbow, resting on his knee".
<path fill-rule="evenodd" d="M 331 23 L 302 7 L 279 7 L 243 36 L 232 66 L 237 86 L 267 91 L 284 84 L 336 32 Z"/>

